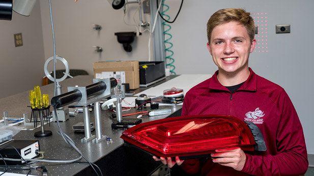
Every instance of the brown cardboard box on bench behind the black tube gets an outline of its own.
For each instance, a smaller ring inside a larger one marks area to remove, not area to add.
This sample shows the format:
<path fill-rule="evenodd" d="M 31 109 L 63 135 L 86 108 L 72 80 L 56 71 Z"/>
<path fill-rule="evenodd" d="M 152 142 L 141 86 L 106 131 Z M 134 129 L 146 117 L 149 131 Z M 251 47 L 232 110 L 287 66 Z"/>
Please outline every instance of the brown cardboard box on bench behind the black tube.
<path fill-rule="evenodd" d="M 123 62 L 94 62 L 94 78 L 102 72 L 125 72 L 125 82 L 130 84 L 130 89 L 139 88 L 138 61 Z"/>

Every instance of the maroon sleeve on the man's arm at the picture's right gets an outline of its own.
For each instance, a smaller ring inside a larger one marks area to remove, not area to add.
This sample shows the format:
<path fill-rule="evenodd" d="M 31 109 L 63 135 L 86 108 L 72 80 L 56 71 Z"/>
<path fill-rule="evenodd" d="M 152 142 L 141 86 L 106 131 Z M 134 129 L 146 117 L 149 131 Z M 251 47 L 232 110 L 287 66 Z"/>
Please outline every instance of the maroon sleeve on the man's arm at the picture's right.
<path fill-rule="evenodd" d="M 278 154 L 246 154 L 243 172 L 252 175 L 299 175 L 307 170 L 305 139 L 297 112 L 286 92 L 283 91 L 278 101 L 281 113 L 276 133 Z"/>

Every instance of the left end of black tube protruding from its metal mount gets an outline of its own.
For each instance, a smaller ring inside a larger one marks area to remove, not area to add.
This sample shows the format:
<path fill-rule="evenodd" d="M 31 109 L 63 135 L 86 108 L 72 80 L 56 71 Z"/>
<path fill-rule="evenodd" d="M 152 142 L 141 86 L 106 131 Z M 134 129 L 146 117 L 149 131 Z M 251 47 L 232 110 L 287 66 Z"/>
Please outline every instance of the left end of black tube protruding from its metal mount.
<path fill-rule="evenodd" d="M 71 104 L 73 102 L 79 101 L 82 98 L 82 93 L 79 90 L 73 90 L 58 96 L 51 98 L 51 105 L 53 108 L 61 108 L 65 105 Z"/>

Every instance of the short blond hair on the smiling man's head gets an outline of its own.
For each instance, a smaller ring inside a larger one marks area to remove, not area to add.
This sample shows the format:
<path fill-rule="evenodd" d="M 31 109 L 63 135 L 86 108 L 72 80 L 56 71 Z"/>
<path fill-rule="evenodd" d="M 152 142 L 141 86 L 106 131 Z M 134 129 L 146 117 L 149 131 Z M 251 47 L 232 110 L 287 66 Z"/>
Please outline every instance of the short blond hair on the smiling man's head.
<path fill-rule="evenodd" d="M 255 25 L 254 20 L 250 16 L 250 13 L 246 12 L 244 9 L 221 9 L 215 12 L 207 22 L 207 38 L 210 43 L 213 29 L 220 25 L 230 21 L 238 22 L 242 24 L 252 41 L 255 36 Z"/>

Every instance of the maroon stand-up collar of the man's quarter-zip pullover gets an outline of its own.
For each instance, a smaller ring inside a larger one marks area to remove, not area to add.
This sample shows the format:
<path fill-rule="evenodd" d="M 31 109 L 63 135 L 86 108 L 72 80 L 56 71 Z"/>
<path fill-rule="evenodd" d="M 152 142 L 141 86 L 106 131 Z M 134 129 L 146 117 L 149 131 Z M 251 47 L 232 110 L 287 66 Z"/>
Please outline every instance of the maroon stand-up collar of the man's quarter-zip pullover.
<path fill-rule="evenodd" d="M 249 77 L 238 90 L 256 91 L 257 75 L 252 71 L 250 67 L 249 71 L 250 71 Z M 209 89 L 229 91 L 226 87 L 219 83 L 217 75 L 218 71 L 216 71 L 215 74 L 212 76 L 212 79 L 209 83 Z"/>

